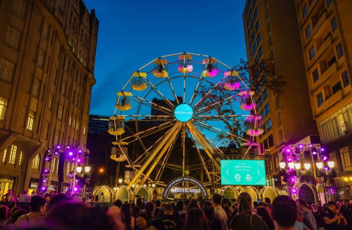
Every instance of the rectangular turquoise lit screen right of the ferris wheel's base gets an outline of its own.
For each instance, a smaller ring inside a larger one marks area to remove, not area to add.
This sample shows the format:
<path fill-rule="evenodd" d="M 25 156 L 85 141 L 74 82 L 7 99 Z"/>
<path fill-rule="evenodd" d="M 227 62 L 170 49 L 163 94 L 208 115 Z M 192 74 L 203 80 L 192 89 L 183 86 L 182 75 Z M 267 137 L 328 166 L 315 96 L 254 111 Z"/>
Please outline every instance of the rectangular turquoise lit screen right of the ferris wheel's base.
<path fill-rule="evenodd" d="M 221 160 L 221 183 L 266 185 L 264 160 Z"/>

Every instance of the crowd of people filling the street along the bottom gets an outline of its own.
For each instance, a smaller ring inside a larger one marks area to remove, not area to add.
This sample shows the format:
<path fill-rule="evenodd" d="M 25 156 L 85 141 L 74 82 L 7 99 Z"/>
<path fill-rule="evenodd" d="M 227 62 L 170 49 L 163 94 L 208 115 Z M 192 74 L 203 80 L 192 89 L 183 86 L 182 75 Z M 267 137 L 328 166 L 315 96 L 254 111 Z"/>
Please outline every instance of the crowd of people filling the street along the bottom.
<path fill-rule="evenodd" d="M 346 200 L 314 205 L 280 195 L 272 202 L 269 198 L 252 202 L 243 192 L 235 203 L 214 194 L 211 201 L 146 202 L 138 198 L 136 203 L 116 200 L 110 207 L 99 207 L 94 201 L 104 201 L 104 194 L 81 198 L 54 191 L 29 195 L 28 190 L 18 200 L 11 191 L 4 199 L 10 204 L 0 205 L 0 229 L 352 229 L 351 206 Z M 18 202 L 29 202 L 29 206 L 18 207 Z"/>

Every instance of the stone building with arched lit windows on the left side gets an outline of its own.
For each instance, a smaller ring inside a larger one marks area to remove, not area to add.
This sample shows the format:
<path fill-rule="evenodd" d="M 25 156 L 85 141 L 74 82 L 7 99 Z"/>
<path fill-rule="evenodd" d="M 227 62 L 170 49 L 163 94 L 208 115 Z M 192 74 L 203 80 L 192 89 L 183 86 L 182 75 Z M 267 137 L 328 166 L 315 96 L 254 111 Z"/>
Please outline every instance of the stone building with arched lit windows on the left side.
<path fill-rule="evenodd" d="M 0 196 L 36 189 L 53 145 L 85 147 L 98 25 L 79 0 L 0 2 Z"/>

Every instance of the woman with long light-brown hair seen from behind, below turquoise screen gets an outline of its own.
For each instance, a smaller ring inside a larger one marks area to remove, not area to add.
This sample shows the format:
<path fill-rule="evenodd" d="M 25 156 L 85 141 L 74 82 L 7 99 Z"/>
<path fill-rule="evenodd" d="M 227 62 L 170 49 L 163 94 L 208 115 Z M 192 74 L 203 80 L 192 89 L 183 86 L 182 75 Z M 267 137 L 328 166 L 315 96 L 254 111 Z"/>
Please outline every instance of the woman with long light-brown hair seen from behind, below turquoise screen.
<path fill-rule="evenodd" d="M 253 212 L 252 197 L 247 192 L 239 194 L 237 203 L 237 214 L 229 224 L 230 229 L 267 229 L 263 219 Z"/>

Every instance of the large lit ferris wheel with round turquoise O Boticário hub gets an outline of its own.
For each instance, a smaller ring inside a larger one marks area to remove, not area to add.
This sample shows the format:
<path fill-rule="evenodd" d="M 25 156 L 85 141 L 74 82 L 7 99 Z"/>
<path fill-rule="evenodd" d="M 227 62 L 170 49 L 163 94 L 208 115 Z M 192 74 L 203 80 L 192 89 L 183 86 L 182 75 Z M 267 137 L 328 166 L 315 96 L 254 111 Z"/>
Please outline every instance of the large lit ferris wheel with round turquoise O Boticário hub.
<path fill-rule="evenodd" d="M 263 133 L 254 93 L 238 72 L 213 57 L 179 53 L 154 59 L 117 92 L 108 130 L 116 137 L 111 159 L 127 161 L 134 171 L 128 187 L 162 184 L 165 167 L 183 176 L 204 170 L 209 182 L 217 182 L 228 146 L 241 146 L 246 155 Z M 175 150 L 178 140 L 181 148 Z M 131 145 L 138 145 L 140 154 L 128 153 Z M 197 163 L 185 160 L 190 148 Z M 169 162 L 172 154 L 179 164 Z"/>

